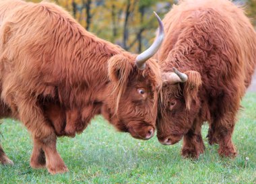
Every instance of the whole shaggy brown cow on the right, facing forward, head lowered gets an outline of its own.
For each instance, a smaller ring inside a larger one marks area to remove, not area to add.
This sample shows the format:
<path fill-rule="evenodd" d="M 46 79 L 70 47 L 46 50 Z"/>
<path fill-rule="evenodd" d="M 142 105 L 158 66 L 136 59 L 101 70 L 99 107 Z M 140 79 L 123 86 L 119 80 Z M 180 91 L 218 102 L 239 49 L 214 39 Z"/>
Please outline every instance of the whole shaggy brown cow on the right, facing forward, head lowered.
<path fill-rule="evenodd" d="M 219 154 L 235 156 L 232 132 L 256 62 L 256 34 L 243 9 L 227 0 L 187 0 L 163 19 L 166 38 L 157 58 L 163 87 L 157 120 L 165 145 L 183 138 L 182 155 L 203 153 L 203 122 Z M 174 68 L 178 68 L 179 73 Z"/>

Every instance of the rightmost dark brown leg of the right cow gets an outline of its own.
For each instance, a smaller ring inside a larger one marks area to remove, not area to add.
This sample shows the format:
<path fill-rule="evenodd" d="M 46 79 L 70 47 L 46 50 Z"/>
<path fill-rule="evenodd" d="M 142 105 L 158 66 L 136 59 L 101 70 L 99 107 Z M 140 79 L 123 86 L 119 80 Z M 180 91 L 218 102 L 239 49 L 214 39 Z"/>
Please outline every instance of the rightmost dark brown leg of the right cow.
<path fill-rule="evenodd" d="M 232 142 L 232 134 L 243 91 L 238 86 L 232 86 L 230 89 L 234 91 L 224 91 L 223 95 L 216 99 L 218 108 L 211 112 L 213 120 L 212 124 L 210 124 L 209 140 L 212 140 L 210 144 L 219 144 L 218 153 L 220 156 L 234 158 L 236 156 L 236 148 Z"/>

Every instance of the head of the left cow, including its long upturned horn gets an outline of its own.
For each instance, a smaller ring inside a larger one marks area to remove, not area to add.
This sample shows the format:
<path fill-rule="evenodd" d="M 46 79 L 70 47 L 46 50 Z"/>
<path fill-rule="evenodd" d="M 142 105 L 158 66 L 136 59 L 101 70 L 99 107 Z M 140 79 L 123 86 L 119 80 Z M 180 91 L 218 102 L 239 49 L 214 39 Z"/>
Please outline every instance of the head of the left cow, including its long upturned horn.
<path fill-rule="evenodd" d="M 110 95 L 102 113 L 117 130 L 143 140 L 154 136 L 158 92 L 162 86 L 160 68 L 151 58 L 164 38 L 159 17 L 158 23 L 159 34 L 148 50 L 138 56 L 117 54 L 108 60 Z"/>

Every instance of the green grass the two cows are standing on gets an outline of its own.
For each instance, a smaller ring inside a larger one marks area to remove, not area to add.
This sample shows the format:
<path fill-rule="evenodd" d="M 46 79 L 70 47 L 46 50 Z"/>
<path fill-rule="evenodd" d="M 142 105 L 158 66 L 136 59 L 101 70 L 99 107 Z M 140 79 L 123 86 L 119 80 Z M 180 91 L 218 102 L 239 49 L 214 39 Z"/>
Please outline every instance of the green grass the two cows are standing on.
<path fill-rule="evenodd" d="M 256 183 L 256 94 L 243 99 L 234 131 L 238 156 L 220 158 L 209 146 L 203 126 L 205 154 L 198 160 L 181 158 L 181 144 L 162 146 L 115 132 L 100 116 L 83 134 L 59 138 L 57 149 L 69 168 L 64 175 L 29 165 L 32 141 L 22 124 L 3 120 L 1 144 L 13 166 L 0 166 L 0 183 Z M 245 167 L 245 157 L 249 157 Z"/>

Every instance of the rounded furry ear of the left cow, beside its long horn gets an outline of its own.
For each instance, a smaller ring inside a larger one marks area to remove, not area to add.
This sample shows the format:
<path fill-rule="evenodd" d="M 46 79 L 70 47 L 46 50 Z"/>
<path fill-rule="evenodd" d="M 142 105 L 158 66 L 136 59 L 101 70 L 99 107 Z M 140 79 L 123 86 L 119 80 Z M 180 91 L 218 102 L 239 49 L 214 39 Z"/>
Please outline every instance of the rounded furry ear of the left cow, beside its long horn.
<path fill-rule="evenodd" d="M 131 63 L 125 56 L 117 54 L 108 60 L 108 77 L 114 83 L 125 83 L 131 71 Z"/>

